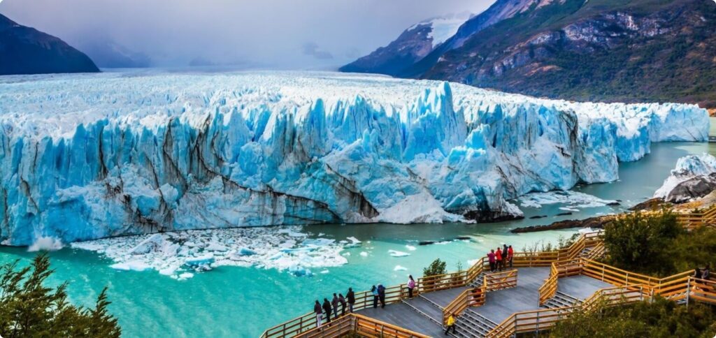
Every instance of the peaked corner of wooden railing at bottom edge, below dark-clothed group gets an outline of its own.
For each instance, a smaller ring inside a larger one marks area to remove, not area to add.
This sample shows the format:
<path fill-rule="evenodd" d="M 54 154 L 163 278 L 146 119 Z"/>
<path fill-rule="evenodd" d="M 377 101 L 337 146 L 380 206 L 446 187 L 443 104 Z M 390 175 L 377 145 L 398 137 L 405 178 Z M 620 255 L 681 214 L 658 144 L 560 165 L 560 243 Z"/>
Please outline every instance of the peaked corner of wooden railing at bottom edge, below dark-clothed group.
<path fill-rule="evenodd" d="M 334 338 L 354 333 L 362 337 L 427 338 L 425 334 L 412 332 L 392 324 L 365 317 L 360 314 L 347 314 L 330 324 L 316 327 L 297 335 L 301 338 Z"/>

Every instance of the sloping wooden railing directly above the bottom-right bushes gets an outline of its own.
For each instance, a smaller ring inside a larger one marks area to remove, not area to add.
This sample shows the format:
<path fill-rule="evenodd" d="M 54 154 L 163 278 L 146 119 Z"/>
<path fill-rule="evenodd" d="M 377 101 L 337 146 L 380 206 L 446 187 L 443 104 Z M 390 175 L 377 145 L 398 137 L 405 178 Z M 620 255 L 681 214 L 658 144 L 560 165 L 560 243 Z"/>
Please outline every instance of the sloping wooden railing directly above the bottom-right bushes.
<path fill-rule="evenodd" d="M 575 311 L 591 311 L 598 304 L 606 306 L 627 304 L 644 299 L 642 286 L 609 287 L 595 292 L 581 305 L 557 309 L 539 309 L 516 312 L 492 329 L 485 337 L 507 338 L 515 334 L 539 332 L 553 327 L 556 322 L 568 318 Z"/>

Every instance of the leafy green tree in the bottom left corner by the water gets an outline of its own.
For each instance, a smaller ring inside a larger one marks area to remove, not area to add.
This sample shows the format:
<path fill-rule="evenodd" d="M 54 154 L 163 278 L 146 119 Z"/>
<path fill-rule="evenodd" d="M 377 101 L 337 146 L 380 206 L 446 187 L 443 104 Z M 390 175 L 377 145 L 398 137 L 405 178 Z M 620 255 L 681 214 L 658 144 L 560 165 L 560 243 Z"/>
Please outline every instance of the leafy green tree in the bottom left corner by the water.
<path fill-rule="evenodd" d="M 107 312 L 107 288 L 97 297 L 95 309 L 67 301 L 67 282 L 45 287 L 50 269 L 47 254 L 31 266 L 19 261 L 0 266 L 0 336 L 15 337 L 120 337 L 121 329 Z"/>

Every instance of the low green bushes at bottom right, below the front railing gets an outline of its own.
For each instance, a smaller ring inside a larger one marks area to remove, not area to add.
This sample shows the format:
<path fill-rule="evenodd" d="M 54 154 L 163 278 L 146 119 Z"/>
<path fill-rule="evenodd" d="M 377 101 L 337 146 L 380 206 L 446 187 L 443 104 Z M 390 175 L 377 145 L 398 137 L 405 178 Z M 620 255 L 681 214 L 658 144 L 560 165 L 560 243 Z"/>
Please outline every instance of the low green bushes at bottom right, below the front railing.
<path fill-rule="evenodd" d="M 715 321 L 714 310 L 703 304 L 691 304 L 687 308 L 657 297 L 654 302 L 577 312 L 558 322 L 549 335 L 554 338 L 710 338 L 716 334 Z"/>

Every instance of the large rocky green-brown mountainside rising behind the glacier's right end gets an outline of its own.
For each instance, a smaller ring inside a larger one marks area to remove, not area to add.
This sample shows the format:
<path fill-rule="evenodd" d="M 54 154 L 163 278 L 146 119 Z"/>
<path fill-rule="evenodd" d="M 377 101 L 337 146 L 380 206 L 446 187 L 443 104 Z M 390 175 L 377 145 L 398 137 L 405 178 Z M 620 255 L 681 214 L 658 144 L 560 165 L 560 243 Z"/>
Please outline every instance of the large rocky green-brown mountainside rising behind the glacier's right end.
<path fill-rule="evenodd" d="M 716 105 L 716 4 L 564 0 L 531 6 L 421 77 L 536 96 Z"/>

